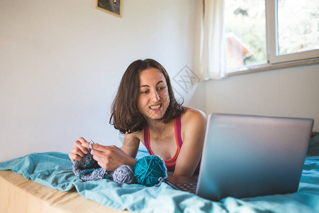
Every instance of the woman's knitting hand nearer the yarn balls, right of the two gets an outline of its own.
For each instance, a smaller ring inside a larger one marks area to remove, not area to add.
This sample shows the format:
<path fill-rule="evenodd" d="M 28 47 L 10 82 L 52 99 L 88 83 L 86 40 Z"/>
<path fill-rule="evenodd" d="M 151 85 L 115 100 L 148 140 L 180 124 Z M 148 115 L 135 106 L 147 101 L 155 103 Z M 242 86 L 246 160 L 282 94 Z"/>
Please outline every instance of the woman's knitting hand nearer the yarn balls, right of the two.
<path fill-rule="evenodd" d="M 89 143 L 85 145 L 89 148 Z M 108 171 L 116 170 L 120 165 L 133 166 L 136 162 L 135 158 L 127 155 L 124 151 L 121 151 L 117 146 L 102 146 L 98 143 L 92 144 L 93 150 L 91 154 L 93 159 L 98 162 L 101 168 Z"/>

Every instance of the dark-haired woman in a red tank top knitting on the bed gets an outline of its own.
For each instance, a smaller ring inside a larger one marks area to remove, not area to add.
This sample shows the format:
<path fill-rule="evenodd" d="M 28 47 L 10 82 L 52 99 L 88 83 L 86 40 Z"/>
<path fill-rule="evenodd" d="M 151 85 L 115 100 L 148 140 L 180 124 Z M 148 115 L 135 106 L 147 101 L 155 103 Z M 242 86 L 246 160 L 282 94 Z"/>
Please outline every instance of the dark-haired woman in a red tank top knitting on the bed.
<path fill-rule="evenodd" d="M 198 170 L 206 129 L 206 115 L 177 103 L 169 76 L 155 60 L 136 60 L 125 71 L 113 101 L 110 124 L 125 133 L 122 148 L 93 144 L 91 154 L 102 168 L 133 166 L 139 143 L 159 155 L 174 176 Z M 69 158 L 81 160 L 89 143 L 74 142 Z"/>

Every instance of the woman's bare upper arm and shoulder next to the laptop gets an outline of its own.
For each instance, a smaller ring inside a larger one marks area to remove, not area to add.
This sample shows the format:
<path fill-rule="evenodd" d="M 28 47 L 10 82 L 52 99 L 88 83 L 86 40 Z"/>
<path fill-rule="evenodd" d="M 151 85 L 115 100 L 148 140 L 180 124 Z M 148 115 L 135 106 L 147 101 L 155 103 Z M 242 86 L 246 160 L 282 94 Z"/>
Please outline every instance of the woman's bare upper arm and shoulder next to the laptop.
<path fill-rule="evenodd" d="M 206 131 L 206 115 L 198 110 L 186 108 L 181 118 L 183 146 L 179 151 L 174 176 L 191 176 L 201 159 Z M 184 136 L 184 137 L 183 137 Z"/>

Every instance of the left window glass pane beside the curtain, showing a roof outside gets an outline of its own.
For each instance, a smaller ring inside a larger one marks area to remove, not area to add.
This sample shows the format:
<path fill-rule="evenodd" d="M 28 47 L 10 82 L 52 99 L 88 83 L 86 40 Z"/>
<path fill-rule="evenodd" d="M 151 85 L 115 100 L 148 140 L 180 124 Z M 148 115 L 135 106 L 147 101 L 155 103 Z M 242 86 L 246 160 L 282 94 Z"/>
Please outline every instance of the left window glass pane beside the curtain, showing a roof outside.
<path fill-rule="evenodd" d="M 225 0 L 227 68 L 267 63 L 264 0 Z"/>

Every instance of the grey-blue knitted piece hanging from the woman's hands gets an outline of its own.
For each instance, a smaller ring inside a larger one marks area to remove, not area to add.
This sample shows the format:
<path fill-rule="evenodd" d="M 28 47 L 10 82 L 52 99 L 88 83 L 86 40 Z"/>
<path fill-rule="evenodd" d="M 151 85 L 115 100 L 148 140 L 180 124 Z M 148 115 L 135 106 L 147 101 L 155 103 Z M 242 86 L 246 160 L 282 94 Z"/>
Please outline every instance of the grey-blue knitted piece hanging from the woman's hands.
<path fill-rule="evenodd" d="M 96 162 L 91 155 L 91 148 L 86 148 L 88 153 L 84 155 L 82 160 L 75 160 L 73 163 L 73 173 L 80 180 L 100 180 L 102 178 L 110 179 L 112 172 L 109 172 Z"/>

